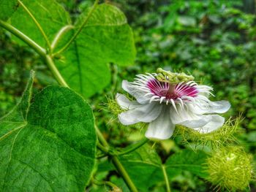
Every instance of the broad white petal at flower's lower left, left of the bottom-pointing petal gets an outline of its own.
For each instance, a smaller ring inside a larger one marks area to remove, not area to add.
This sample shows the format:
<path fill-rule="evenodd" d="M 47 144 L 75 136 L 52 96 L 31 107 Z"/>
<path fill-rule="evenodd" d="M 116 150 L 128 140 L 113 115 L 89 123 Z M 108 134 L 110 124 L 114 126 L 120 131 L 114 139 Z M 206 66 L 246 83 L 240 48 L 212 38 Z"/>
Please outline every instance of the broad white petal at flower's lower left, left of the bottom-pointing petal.
<path fill-rule="evenodd" d="M 157 102 L 152 102 L 151 104 L 140 104 L 133 110 L 121 112 L 121 114 L 118 115 L 118 119 L 126 126 L 138 122 L 149 123 L 159 116 L 161 110 L 162 105 L 159 105 Z"/>

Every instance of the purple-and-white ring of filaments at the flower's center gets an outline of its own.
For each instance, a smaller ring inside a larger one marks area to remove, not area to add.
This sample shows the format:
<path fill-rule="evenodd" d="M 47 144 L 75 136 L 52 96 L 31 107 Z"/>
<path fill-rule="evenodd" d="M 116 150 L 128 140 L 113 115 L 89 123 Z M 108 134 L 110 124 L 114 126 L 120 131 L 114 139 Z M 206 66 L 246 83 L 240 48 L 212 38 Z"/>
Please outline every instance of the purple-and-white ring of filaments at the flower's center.
<path fill-rule="evenodd" d="M 197 88 L 186 83 L 170 84 L 170 82 L 160 82 L 151 79 L 147 83 L 147 87 L 155 96 L 165 97 L 165 99 L 176 100 L 182 96 L 197 96 Z"/>

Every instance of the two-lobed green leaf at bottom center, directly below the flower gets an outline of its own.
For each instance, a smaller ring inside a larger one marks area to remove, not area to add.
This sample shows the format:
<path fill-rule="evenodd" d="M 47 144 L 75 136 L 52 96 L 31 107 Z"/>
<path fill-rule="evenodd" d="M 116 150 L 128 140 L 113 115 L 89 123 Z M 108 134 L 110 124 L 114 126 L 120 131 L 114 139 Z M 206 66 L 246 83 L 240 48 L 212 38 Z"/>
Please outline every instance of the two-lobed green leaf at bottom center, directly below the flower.
<path fill-rule="evenodd" d="M 203 163 L 206 161 L 206 153 L 197 150 L 181 150 L 174 153 L 162 164 L 157 153 L 149 146 L 140 147 L 133 153 L 121 156 L 121 163 L 139 191 L 148 191 L 157 183 L 165 185 L 164 172 L 168 180 L 172 180 L 182 171 L 189 171 L 199 177 L 206 177 L 203 171 Z M 143 177 L 142 175 L 143 174 Z"/>

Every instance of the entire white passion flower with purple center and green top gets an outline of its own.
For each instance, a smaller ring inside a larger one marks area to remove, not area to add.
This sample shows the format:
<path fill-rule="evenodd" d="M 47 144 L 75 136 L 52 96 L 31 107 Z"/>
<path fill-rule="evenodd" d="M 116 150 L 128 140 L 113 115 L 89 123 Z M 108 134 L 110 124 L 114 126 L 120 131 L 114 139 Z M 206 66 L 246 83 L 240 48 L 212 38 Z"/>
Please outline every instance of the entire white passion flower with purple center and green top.
<path fill-rule="evenodd" d="M 116 94 L 118 105 L 126 110 L 118 115 L 124 125 L 149 123 L 146 137 L 168 139 L 175 125 L 208 133 L 220 128 L 225 118 L 214 113 L 227 112 L 228 101 L 210 101 L 213 88 L 197 85 L 194 77 L 184 73 L 157 69 L 154 74 L 138 74 L 134 82 L 123 80 L 122 88 L 135 100 Z"/>

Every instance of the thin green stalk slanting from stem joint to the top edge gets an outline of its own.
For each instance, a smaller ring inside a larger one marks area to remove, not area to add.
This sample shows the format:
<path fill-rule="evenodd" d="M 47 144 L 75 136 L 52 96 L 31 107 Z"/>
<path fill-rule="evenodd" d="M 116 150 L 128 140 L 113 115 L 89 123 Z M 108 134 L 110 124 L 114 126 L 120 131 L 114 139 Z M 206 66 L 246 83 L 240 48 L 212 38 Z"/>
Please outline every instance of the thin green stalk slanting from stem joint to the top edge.
<path fill-rule="evenodd" d="M 94 12 L 94 10 L 96 9 L 96 7 L 98 6 L 98 3 L 99 3 L 99 0 L 94 1 L 93 7 L 91 8 L 91 10 L 90 10 L 89 14 L 87 15 L 86 19 L 83 21 L 82 25 L 80 25 L 80 27 L 78 28 L 78 31 L 75 31 L 75 34 L 72 36 L 71 39 L 69 39 L 69 42 L 67 42 L 67 44 L 64 45 L 64 47 L 61 48 L 61 50 L 59 50 L 57 53 L 54 53 L 53 55 L 58 55 L 59 53 L 62 53 L 64 50 L 67 50 L 69 45 L 75 40 L 75 38 L 78 36 L 78 34 L 80 34 L 80 31 L 82 31 L 83 27 L 86 25 L 89 18 L 91 18 L 91 15 Z"/>

